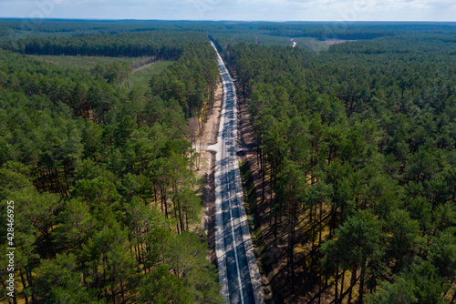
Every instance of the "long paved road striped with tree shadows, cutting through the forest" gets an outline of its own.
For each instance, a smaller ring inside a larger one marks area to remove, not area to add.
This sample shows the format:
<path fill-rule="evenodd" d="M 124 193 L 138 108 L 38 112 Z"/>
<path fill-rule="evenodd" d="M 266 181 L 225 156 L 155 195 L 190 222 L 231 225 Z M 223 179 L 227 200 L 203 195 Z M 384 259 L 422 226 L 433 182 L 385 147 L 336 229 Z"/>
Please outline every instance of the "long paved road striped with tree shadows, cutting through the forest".
<path fill-rule="evenodd" d="M 215 46 L 212 44 L 215 48 Z M 217 49 L 215 48 L 217 52 Z M 215 165 L 215 251 L 222 283 L 221 293 L 230 304 L 263 304 L 260 272 L 244 209 L 237 150 L 237 98 L 233 79 L 217 52 L 223 80 L 223 108 Z"/>

